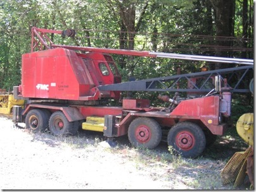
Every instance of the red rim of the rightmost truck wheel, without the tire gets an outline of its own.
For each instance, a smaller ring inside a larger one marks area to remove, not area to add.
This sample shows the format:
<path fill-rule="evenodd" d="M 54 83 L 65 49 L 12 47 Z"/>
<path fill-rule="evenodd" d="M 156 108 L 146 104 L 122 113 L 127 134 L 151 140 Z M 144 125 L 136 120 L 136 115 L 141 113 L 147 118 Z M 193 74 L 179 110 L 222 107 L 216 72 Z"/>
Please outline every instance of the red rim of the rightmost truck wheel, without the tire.
<path fill-rule="evenodd" d="M 176 146 L 181 150 L 191 150 L 195 145 L 195 137 L 188 131 L 182 131 L 176 136 Z"/>

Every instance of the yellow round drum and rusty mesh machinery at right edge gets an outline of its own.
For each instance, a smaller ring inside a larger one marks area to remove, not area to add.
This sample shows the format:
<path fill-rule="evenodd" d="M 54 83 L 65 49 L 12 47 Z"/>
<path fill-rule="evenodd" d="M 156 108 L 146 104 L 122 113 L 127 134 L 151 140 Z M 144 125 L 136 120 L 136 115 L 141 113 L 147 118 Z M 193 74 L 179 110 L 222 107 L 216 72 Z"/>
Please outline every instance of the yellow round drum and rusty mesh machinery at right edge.
<path fill-rule="evenodd" d="M 252 188 L 254 188 L 254 172 L 253 172 L 253 113 L 243 114 L 236 123 L 236 131 L 249 147 L 245 152 L 236 152 L 227 162 L 221 172 L 223 184 L 233 183 L 234 187 L 240 186 L 248 174 Z"/>

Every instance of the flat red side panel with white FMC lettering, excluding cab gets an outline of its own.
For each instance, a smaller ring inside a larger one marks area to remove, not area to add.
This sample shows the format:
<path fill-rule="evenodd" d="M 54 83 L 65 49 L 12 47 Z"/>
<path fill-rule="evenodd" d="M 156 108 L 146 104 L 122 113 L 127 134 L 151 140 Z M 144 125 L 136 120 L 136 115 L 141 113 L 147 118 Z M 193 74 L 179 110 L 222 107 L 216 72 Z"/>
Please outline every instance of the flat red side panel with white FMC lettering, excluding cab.
<path fill-rule="evenodd" d="M 23 55 L 23 97 L 77 99 L 79 82 L 70 52 L 53 49 Z"/>

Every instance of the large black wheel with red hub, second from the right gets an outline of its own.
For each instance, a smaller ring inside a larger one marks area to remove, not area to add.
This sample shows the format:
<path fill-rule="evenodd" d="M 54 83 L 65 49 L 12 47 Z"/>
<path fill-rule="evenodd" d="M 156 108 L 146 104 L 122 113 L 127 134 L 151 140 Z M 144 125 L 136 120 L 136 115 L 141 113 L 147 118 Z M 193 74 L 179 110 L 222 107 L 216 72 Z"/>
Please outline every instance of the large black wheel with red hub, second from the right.
<path fill-rule="evenodd" d="M 134 147 L 155 148 L 162 139 L 162 129 L 155 119 L 138 117 L 129 126 L 128 138 Z"/>

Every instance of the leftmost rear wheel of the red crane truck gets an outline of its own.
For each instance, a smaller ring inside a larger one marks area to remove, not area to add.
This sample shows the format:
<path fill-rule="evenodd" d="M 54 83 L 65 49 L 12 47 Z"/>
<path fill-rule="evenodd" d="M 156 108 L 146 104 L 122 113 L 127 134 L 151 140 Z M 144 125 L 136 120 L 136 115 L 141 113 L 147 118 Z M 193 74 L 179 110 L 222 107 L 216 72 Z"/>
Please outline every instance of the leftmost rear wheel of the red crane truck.
<path fill-rule="evenodd" d="M 27 129 L 37 133 L 47 129 L 48 121 L 44 111 L 41 109 L 32 109 L 27 113 L 27 116 L 25 117 L 25 124 Z"/>

